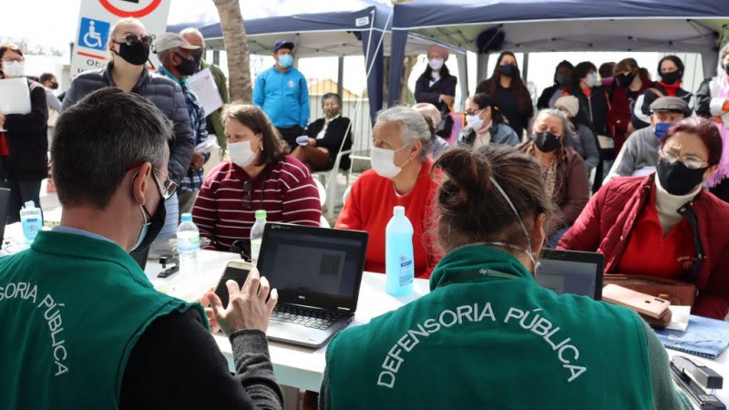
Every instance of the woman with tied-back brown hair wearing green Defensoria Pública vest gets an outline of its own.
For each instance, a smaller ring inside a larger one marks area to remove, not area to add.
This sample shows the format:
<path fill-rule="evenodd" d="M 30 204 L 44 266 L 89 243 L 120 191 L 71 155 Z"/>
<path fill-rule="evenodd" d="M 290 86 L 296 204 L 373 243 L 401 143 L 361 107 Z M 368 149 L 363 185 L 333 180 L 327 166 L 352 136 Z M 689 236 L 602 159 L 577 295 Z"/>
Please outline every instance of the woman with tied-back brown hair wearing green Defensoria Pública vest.
<path fill-rule="evenodd" d="M 552 206 L 537 162 L 488 145 L 434 169 L 431 292 L 334 337 L 320 408 L 691 408 L 638 315 L 534 282 Z"/>

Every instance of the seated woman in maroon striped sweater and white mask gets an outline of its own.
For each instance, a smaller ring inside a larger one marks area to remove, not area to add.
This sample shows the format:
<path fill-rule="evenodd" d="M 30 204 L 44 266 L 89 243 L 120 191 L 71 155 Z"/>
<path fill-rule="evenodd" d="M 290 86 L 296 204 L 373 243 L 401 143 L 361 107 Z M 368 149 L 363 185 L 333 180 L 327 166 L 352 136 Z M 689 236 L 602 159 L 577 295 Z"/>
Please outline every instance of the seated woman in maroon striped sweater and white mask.
<path fill-rule="evenodd" d="M 269 222 L 319 226 L 322 205 L 309 169 L 289 155 L 261 108 L 233 103 L 223 109 L 230 161 L 210 170 L 192 209 L 208 249 L 248 249 L 256 210 Z"/>

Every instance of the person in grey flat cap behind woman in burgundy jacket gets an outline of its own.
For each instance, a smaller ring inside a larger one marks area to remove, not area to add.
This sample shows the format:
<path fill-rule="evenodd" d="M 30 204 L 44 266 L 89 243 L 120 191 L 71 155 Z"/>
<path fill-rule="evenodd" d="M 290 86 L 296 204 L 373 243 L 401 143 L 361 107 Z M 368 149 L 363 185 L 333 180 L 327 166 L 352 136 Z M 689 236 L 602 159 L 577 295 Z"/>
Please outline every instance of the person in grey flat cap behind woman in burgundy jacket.
<path fill-rule="evenodd" d="M 685 118 L 688 111 L 688 104 L 682 98 L 656 98 L 651 104 L 651 127 L 635 131 L 625 141 L 605 182 L 613 177 L 644 175 L 655 170 L 658 149 L 668 128 Z"/>

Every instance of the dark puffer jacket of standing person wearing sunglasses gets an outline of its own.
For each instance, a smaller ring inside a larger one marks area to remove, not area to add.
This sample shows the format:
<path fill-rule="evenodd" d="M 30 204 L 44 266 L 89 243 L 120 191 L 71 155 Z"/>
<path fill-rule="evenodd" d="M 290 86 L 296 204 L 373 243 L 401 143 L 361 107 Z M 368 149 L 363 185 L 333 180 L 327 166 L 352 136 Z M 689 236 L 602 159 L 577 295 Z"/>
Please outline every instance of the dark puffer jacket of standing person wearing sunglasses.
<path fill-rule="evenodd" d="M 63 109 L 73 107 L 83 97 L 104 87 L 117 87 L 111 77 L 111 63 L 106 68 L 79 74 L 66 92 Z M 169 179 L 180 183 L 188 173 L 192 150 L 195 148 L 195 134 L 190 127 L 190 117 L 182 88 L 167 77 L 150 73 L 145 67 L 131 92 L 149 99 L 174 123 L 174 135 L 169 139 L 167 168 Z"/>

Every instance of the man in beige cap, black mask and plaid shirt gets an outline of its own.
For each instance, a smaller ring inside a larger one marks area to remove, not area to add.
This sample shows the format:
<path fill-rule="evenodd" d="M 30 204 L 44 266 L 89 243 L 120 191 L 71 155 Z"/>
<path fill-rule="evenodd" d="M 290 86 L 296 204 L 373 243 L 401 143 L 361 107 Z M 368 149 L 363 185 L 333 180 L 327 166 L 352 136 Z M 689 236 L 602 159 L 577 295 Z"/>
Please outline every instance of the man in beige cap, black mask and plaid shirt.
<path fill-rule="evenodd" d="M 208 138 L 208 126 L 205 122 L 205 110 L 202 109 L 200 99 L 190 88 L 185 77 L 195 73 L 196 61 L 192 57 L 194 51 L 200 50 L 200 46 L 192 46 L 182 36 L 174 33 L 164 33 L 157 37 L 154 42 L 155 52 L 159 56 L 162 65 L 157 72 L 162 76 L 180 84 L 182 94 L 185 96 L 185 104 L 190 116 L 190 126 L 195 134 L 195 145 L 197 146 Z M 198 149 L 193 149 L 190 158 L 190 169 L 180 181 L 178 198 L 180 200 L 180 215 L 192 210 L 200 187 L 202 186 L 202 166 L 210 159 L 210 154 L 203 154 Z"/>

